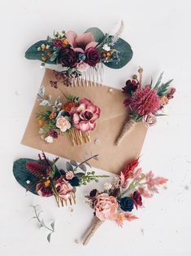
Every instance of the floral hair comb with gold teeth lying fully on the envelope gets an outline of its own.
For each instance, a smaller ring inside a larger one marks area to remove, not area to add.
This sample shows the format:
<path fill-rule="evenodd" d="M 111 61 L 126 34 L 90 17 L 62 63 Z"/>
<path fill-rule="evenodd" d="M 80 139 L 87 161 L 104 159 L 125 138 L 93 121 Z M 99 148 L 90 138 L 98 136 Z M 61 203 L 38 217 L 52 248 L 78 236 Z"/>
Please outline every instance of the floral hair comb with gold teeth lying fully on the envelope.
<path fill-rule="evenodd" d="M 66 99 L 64 103 L 59 97 L 53 103 L 51 95 L 45 99 L 45 86 L 41 86 L 37 96 L 40 105 L 45 107 L 43 111 L 37 113 L 41 126 L 39 130 L 41 139 L 53 143 L 59 135 L 67 134 L 73 145 L 90 142 L 89 131 L 95 129 L 96 121 L 100 116 L 98 106 L 89 99 L 79 99 L 72 95 L 68 97 L 64 95 Z"/>

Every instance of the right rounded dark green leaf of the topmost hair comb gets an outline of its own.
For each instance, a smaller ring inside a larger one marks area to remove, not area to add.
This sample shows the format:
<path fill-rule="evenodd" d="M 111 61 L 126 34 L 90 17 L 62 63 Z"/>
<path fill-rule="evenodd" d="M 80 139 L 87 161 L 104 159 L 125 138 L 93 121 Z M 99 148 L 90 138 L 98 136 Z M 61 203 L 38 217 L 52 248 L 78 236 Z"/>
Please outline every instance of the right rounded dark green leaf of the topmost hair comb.
<path fill-rule="evenodd" d="M 132 60 L 132 47 L 128 42 L 125 42 L 124 39 L 119 38 L 112 48 L 118 52 L 119 61 L 103 62 L 107 67 L 115 69 L 123 68 L 130 60 Z"/>

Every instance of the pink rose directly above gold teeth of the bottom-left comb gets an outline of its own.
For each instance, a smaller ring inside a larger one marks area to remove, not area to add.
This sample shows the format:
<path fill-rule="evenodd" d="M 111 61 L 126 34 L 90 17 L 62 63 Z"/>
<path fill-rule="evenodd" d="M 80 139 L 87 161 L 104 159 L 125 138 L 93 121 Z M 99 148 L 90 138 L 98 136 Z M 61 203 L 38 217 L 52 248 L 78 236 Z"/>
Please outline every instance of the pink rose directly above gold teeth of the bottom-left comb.
<path fill-rule="evenodd" d="M 63 177 L 57 179 L 55 188 L 59 193 L 59 196 L 65 201 L 67 201 L 68 197 L 71 195 L 71 192 L 73 191 L 72 185 L 68 183 L 67 180 L 64 179 Z"/>

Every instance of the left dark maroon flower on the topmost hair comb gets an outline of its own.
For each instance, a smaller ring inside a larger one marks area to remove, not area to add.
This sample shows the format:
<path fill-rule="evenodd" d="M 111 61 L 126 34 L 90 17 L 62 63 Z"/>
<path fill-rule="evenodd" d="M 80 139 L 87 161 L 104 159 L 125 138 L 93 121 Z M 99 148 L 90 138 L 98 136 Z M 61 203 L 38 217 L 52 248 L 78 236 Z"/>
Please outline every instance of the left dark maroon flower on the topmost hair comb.
<path fill-rule="evenodd" d="M 60 53 L 59 61 L 60 64 L 63 65 L 63 67 L 75 68 L 78 61 L 76 52 L 73 51 L 71 48 L 63 48 Z"/>

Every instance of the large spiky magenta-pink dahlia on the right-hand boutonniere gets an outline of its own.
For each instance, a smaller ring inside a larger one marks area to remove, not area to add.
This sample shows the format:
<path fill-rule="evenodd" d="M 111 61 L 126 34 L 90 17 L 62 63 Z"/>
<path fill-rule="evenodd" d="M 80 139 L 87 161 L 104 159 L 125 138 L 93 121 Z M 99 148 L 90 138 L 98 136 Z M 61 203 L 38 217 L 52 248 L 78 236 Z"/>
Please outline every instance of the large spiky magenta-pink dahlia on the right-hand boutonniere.
<path fill-rule="evenodd" d="M 132 112 L 139 116 L 157 113 L 161 107 L 161 100 L 157 95 L 157 91 L 150 86 L 138 87 L 132 97 L 124 101 L 124 104 L 132 108 Z"/>

